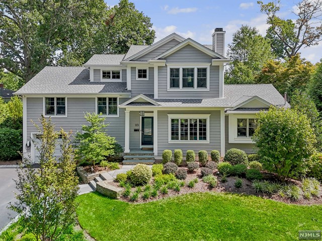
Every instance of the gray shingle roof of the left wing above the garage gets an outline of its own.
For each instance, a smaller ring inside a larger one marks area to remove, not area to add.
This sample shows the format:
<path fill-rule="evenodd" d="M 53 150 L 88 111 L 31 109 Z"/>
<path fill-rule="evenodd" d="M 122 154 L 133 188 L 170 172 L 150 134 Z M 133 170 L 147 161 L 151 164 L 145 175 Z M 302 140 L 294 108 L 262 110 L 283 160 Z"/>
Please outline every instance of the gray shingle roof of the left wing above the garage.
<path fill-rule="evenodd" d="M 90 82 L 85 67 L 45 67 L 15 94 L 125 93 L 126 82 Z"/>

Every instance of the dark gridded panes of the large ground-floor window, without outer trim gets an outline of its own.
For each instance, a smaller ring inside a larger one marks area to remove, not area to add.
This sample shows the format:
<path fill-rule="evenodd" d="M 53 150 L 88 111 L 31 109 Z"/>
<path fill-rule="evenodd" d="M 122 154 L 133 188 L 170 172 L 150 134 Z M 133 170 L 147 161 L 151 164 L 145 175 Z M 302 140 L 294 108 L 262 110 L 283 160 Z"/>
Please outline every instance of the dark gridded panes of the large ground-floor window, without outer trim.
<path fill-rule="evenodd" d="M 171 141 L 207 141 L 206 118 L 171 118 Z"/>

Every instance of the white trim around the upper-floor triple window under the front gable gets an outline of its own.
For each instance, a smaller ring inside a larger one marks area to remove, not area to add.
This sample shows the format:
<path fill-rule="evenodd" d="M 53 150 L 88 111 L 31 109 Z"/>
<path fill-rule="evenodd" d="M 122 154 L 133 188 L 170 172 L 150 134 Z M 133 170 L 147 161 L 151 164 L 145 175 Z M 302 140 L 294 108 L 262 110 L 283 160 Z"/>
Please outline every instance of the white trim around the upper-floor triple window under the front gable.
<path fill-rule="evenodd" d="M 170 69 L 179 68 L 179 88 L 170 88 Z M 183 68 L 194 68 L 194 84 L 193 88 L 183 88 L 182 87 L 182 69 Z M 197 88 L 197 69 L 206 68 L 207 69 L 207 88 Z M 210 85 L 210 63 L 208 64 L 167 64 L 167 91 L 209 91 Z"/>

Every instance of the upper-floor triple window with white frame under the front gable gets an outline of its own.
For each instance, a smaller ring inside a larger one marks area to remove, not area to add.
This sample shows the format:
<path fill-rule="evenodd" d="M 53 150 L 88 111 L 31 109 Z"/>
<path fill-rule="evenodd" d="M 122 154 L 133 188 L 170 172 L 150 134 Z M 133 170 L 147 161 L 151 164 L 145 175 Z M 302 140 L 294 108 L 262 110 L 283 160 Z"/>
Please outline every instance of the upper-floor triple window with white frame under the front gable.
<path fill-rule="evenodd" d="M 208 91 L 209 66 L 168 66 L 168 91 Z"/>

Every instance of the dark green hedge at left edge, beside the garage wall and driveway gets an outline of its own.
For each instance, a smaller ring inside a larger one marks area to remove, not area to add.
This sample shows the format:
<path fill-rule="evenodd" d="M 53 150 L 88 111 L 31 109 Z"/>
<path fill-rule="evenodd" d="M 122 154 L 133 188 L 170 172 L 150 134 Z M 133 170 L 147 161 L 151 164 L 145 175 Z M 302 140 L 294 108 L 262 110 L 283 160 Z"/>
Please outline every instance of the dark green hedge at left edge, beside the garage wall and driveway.
<path fill-rule="evenodd" d="M 22 152 L 22 130 L 0 129 L 0 160 L 8 161 L 20 157 Z"/>

